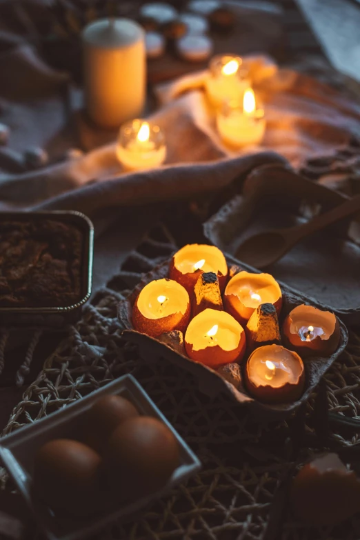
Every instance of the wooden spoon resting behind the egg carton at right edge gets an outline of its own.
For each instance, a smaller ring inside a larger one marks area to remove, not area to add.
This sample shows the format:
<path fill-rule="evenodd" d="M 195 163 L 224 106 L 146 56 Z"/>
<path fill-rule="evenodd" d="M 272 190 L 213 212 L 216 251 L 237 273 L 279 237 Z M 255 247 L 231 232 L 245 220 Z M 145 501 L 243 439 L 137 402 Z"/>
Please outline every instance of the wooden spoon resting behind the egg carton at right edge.
<path fill-rule="evenodd" d="M 279 261 L 297 242 L 332 223 L 360 210 L 360 194 L 314 219 L 287 229 L 260 232 L 244 241 L 237 249 L 236 257 L 255 268 L 264 268 Z"/>

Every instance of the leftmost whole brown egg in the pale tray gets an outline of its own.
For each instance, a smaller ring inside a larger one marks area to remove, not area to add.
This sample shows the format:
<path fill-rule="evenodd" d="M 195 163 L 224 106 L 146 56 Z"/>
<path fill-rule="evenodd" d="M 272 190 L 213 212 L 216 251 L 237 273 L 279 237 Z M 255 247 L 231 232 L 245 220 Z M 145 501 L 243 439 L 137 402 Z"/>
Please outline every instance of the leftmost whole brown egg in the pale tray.
<path fill-rule="evenodd" d="M 99 454 L 83 443 L 54 439 L 35 456 L 34 488 L 55 511 L 86 516 L 96 508 L 100 463 Z"/>

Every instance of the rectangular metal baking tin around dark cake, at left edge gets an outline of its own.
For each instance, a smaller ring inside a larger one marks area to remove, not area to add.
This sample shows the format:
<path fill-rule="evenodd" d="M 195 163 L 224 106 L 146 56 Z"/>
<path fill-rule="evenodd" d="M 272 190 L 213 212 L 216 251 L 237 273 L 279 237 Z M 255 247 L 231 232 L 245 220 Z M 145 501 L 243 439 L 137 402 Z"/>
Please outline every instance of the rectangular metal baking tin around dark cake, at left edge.
<path fill-rule="evenodd" d="M 92 288 L 92 261 L 94 252 L 94 226 L 86 215 L 72 210 L 53 212 L 0 212 L 1 221 L 53 220 L 77 227 L 83 233 L 81 257 L 81 299 L 72 306 L 62 308 L 0 308 L 0 326 L 36 326 L 62 328 L 79 319 L 81 308 L 88 301 Z"/>

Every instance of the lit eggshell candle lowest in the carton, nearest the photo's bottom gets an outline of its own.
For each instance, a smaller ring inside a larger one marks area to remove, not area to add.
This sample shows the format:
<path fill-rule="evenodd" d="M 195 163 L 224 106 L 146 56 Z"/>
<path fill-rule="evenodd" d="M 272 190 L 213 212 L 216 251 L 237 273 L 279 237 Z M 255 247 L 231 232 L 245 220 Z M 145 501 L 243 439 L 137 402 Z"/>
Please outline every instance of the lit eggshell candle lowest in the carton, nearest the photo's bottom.
<path fill-rule="evenodd" d="M 246 388 L 264 403 L 296 401 L 303 393 L 305 372 L 299 354 L 280 345 L 265 345 L 250 355 Z"/>

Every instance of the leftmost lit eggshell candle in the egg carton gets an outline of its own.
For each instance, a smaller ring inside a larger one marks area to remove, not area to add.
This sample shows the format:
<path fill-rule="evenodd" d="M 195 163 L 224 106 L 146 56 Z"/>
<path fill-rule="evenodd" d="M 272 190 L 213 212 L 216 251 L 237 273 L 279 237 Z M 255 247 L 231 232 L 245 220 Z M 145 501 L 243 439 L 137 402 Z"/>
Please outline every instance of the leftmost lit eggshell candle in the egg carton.
<path fill-rule="evenodd" d="M 181 330 L 188 326 L 190 299 L 188 292 L 171 279 L 150 281 L 134 302 L 132 324 L 135 330 L 158 337 L 163 332 Z"/>

